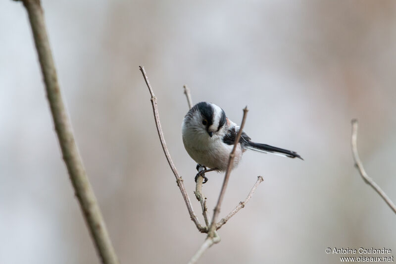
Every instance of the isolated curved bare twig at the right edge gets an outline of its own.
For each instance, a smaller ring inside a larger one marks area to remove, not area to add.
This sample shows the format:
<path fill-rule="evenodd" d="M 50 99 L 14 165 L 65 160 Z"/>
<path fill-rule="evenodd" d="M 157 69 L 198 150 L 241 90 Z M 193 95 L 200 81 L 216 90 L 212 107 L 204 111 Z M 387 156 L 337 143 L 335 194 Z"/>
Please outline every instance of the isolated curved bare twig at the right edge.
<path fill-rule="evenodd" d="M 359 158 L 359 153 L 357 152 L 357 119 L 352 119 L 352 136 L 351 136 L 351 146 L 352 146 L 352 156 L 355 161 L 355 166 L 362 176 L 363 180 L 369 184 L 373 189 L 384 199 L 388 206 L 396 213 L 396 206 L 392 200 L 387 196 L 387 194 L 378 186 L 377 183 L 369 177 L 363 168 L 363 163 Z"/>

